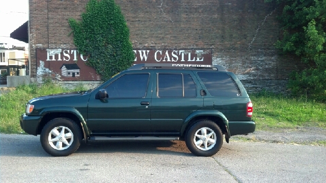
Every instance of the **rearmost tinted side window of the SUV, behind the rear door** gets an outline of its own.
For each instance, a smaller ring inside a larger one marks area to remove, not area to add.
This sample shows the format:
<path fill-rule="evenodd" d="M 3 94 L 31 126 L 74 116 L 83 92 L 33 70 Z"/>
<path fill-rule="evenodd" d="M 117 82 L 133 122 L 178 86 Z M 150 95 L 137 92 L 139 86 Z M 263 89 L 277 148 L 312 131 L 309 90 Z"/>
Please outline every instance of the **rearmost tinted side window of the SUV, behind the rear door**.
<path fill-rule="evenodd" d="M 238 89 L 227 73 L 198 72 L 210 95 L 215 97 L 239 96 Z"/>

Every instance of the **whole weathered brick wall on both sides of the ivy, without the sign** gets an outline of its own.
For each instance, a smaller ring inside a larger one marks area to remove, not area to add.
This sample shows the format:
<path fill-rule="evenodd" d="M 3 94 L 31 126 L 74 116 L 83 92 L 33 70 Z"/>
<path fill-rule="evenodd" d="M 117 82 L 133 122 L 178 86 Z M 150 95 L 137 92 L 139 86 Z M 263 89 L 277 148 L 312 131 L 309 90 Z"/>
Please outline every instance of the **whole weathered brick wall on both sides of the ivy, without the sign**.
<path fill-rule="evenodd" d="M 87 2 L 30 0 L 32 78 L 36 77 L 35 48 L 74 48 L 68 18 L 80 19 Z M 289 72 L 298 66 L 298 59 L 277 54 L 276 16 L 282 9 L 264 0 L 116 3 L 127 21 L 133 48 L 212 48 L 213 64 L 225 66 L 254 90 L 282 90 Z"/>

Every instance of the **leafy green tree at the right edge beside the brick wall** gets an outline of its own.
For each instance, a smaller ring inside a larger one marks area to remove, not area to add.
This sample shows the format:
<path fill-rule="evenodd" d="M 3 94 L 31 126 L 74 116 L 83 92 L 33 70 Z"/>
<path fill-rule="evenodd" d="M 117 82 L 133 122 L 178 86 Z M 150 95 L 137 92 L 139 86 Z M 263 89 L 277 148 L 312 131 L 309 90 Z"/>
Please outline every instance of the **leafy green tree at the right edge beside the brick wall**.
<path fill-rule="evenodd" d="M 326 1 L 265 0 L 283 7 L 279 16 L 282 37 L 276 47 L 295 54 L 306 65 L 290 75 L 292 94 L 326 101 Z M 273 5 L 272 4 L 272 5 Z"/>

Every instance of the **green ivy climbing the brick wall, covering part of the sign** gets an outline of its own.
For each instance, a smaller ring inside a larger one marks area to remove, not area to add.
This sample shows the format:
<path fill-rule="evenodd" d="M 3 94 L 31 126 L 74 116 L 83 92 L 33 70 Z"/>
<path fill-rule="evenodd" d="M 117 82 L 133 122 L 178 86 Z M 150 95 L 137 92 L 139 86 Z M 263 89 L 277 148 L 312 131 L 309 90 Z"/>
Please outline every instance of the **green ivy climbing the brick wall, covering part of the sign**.
<path fill-rule="evenodd" d="M 102 80 L 129 68 L 134 60 L 129 28 L 114 0 L 90 0 L 82 20 L 68 20 L 78 51 L 88 56 Z"/>

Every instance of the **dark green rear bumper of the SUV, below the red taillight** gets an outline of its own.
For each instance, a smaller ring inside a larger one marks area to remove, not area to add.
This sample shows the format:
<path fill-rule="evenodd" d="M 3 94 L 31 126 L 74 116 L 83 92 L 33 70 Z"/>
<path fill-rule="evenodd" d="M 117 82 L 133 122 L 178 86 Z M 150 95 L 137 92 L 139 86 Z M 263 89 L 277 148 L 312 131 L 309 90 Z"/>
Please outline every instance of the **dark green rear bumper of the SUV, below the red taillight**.
<path fill-rule="evenodd" d="M 229 121 L 230 136 L 253 133 L 255 128 L 255 121 Z"/>

